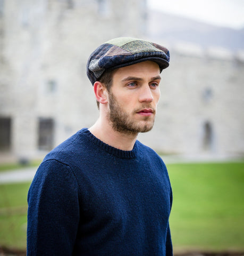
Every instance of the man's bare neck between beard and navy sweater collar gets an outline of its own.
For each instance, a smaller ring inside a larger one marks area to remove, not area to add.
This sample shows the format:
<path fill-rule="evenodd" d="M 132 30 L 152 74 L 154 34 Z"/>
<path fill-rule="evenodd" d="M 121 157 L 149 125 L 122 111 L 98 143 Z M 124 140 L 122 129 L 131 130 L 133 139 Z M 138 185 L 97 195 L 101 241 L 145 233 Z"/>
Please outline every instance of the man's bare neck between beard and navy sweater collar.
<path fill-rule="evenodd" d="M 125 134 L 115 131 L 111 124 L 101 117 L 89 128 L 89 131 L 104 143 L 125 151 L 132 150 L 137 139 L 137 134 Z"/>

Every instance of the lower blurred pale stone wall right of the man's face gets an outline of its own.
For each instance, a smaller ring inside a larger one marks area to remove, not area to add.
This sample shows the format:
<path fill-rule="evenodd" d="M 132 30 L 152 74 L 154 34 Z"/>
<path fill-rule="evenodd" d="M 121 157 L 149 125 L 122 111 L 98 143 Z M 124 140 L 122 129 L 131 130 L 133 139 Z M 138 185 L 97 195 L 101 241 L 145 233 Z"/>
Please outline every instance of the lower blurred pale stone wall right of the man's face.
<path fill-rule="evenodd" d="M 172 45 L 154 148 L 188 157 L 243 157 L 243 57 L 226 49 Z"/>

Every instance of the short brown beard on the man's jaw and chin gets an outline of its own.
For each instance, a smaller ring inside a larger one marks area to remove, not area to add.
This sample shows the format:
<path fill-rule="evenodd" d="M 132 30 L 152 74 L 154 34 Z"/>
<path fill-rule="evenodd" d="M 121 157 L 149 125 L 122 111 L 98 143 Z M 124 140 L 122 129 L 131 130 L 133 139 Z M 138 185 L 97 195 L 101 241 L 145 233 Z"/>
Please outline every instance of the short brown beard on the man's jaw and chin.
<path fill-rule="evenodd" d="M 140 124 L 131 119 L 133 117 L 130 117 L 129 114 L 123 111 L 114 95 L 111 92 L 108 94 L 110 113 L 107 114 L 107 117 L 115 131 L 123 134 L 137 135 L 139 132 L 149 132 L 153 129 L 154 121 L 141 127 Z M 141 108 L 147 108 L 147 106 L 142 106 Z M 132 113 L 137 113 L 137 111 L 139 110 L 134 109 Z M 145 121 L 146 119 L 149 119 L 149 117 L 145 117 Z"/>

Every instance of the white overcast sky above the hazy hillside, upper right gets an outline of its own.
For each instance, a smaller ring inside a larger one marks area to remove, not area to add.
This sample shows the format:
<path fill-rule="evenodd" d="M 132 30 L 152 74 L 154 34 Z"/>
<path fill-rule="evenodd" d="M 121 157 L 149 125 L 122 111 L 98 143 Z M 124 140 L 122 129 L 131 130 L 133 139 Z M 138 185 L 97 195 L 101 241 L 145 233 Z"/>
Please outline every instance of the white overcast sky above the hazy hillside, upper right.
<path fill-rule="evenodd" d="M 151 9 L 211 25 L 244 28 L 244 0 L 147 0 Z"/>

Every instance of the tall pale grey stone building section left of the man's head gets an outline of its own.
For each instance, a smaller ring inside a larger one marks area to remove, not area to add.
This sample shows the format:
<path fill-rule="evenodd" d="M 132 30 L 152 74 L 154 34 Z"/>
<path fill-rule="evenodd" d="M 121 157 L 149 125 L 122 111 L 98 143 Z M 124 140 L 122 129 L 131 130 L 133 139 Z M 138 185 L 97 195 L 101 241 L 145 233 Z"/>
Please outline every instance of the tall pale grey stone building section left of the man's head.
<path fill-rule="evenodd" d="M 89 54 L 145 29 L 141 0 L 0 0 L 2 151 L 36 156 L 97 117 Z"/>

